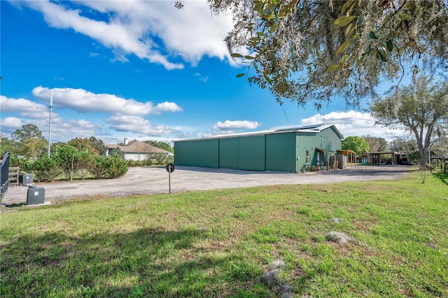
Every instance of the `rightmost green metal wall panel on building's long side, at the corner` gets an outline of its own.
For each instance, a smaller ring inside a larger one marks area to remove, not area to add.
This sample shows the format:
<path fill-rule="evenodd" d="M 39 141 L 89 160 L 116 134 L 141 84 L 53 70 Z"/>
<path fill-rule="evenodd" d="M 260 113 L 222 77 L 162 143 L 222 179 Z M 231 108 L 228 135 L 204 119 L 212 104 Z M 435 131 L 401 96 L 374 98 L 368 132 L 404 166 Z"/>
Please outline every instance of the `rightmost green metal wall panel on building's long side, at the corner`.
<path fill-rule="evenodd" d="M 295 133 L 266 135 L 266 171 L 297 171 Z"/>

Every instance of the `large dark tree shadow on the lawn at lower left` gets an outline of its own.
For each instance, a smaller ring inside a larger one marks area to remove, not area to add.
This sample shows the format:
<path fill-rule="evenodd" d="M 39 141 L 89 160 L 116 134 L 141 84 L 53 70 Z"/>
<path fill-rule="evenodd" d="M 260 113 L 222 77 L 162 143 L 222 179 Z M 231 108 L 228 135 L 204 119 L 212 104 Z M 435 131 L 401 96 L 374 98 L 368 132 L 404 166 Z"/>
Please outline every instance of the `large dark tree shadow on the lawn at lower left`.
<path fill-rule="evenodd" d="M 210 233 L 26 234 L 2 247 L 0 296 L 211 297 L 246 290 L 270 296 L 256 283 L 259 264 L 219 248 L 195 247 Z"/>

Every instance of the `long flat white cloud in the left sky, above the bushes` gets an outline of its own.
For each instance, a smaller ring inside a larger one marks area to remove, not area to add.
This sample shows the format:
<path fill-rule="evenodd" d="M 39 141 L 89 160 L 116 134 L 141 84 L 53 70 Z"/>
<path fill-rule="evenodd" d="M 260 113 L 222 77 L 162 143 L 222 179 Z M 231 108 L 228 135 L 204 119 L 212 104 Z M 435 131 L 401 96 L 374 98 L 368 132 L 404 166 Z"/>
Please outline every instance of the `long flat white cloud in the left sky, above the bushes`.
<path fill-rule="evenodd" d="M 134 99 L 124 99 L 114 94 L 94 94 L 83 89 L 35 87 L 34 97 L 50 101 L 53 92 L 53 106 L 72 108 L 80 113 L 122 113 L 124 115 L 151 115 L 163 112 L 182 111 L 174 102 L 163 102 L 155 107 L 151 101 L 142 103 Z"/>

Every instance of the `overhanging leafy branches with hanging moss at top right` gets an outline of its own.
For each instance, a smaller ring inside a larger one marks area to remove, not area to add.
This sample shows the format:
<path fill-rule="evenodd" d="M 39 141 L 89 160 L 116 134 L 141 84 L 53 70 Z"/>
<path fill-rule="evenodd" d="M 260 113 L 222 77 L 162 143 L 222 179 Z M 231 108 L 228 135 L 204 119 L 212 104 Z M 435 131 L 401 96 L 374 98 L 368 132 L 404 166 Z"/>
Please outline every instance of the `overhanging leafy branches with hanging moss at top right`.
<path fill-rule="evenodd" d="M 446 0 L 208 1 L 213 13 L 232 13 L 225 41 L 248 64 L 238 76 L 280 103 L 320 108 L 341 95 L 357 104 L 406 68 L 448 69 Z"/>

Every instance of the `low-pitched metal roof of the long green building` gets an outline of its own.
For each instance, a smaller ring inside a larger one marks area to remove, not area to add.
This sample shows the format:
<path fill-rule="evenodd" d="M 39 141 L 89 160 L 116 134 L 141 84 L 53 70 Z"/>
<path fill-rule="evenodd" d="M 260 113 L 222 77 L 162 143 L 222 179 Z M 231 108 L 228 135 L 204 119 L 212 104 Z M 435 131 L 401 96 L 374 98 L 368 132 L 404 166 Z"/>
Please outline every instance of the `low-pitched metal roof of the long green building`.
<path fill-rule="evenodd" d="M 323 131 L 323 129 L 328 129 L 329 127 L 332 127 L 336 134 L 342 139 L 344 136 L 337 130 L 335 125 L 307 125 L 302 127 L 288 127 L 288 128 L 282 128 L 282 129 L 269 129 L 269 130 L 263 130 L 260 132 L 241 132 L 238 134 L 219 134 L 217 136 L 209 136 L 207 138 L 197 138 L 197 139 L 183 139 L 183 140 L 175 140 L 174 142 L 180 142 L 180 141 L 196 141 L 196 140 L 207 140 L 207 139 L 225 139 L 225 138 L 233 138 L 235 136 L 258 136 L 262 134 L 283 134 L 287 132 L 309 132 L 309 133 L 317 133 Z"/>

